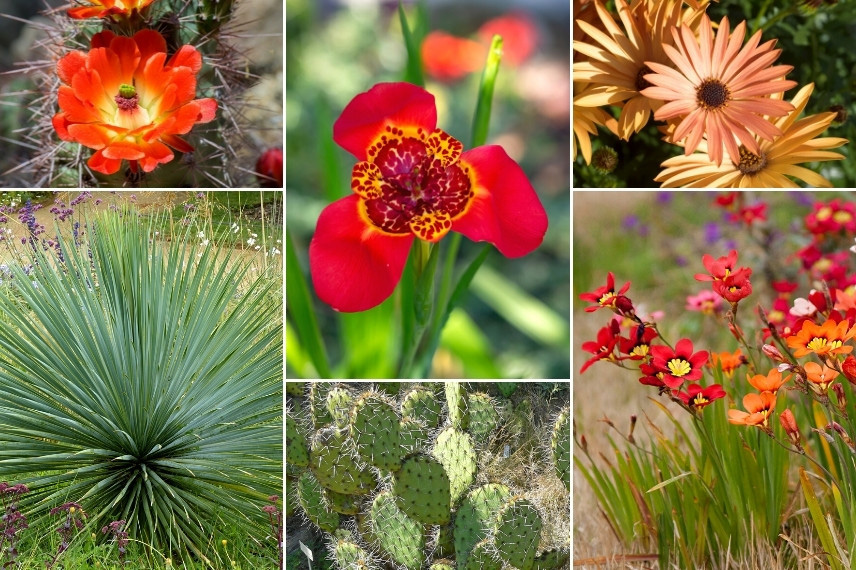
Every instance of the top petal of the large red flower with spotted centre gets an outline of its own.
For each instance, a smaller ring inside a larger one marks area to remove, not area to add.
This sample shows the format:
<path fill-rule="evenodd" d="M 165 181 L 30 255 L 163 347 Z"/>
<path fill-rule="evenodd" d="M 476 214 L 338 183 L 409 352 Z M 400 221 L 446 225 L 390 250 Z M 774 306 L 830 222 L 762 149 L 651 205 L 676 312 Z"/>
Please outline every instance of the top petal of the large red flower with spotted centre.
<path fill-rule="evenodd" d="M 351 99 L 333 124 L 333 140 L 358 160 L 366 160 L 366 149 L 389 125 L 433 132 L 434 96 L 410 83 L 378 83 Z"/>

